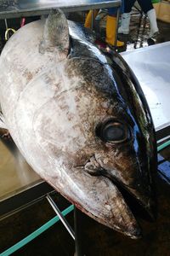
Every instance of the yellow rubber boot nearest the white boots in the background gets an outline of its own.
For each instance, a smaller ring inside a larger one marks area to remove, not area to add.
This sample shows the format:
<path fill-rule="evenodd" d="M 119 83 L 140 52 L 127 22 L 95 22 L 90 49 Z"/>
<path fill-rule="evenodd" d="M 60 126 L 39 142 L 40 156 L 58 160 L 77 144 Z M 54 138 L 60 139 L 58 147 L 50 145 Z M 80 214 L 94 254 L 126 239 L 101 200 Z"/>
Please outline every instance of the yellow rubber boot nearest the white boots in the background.
<path fill-rule="evenodd" d="M 105 42 L 107 44 L 115 45 L 117 47 L 122 47 L 124 45 L 123 42 L 121 41 L 116 41 L 116 17 L 107 15 L 107 20 L 106 20 L 106 37 L 105 37 Z"/>

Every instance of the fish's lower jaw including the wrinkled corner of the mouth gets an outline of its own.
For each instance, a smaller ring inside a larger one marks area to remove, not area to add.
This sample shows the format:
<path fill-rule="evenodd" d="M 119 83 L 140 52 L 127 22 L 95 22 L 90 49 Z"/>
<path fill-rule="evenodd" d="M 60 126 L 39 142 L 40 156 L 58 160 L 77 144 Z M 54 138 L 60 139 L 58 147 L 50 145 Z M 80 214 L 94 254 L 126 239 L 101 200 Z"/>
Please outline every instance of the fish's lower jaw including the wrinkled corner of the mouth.
<path fill-rule="evenodd" d="M 117 230 L 133 239 L 141 237 L 141 229 L 127 206 L 122 193 L 110 178 L 102 175 L 103 169 L 94 156 L 74 173 L 75 183 L 81 191 L 77 207 L 88 212 L 99 223 Z M 76 191 L 75 191 L 76 192 Z M 77 193 L 79 195 L 79 193 Z"/>

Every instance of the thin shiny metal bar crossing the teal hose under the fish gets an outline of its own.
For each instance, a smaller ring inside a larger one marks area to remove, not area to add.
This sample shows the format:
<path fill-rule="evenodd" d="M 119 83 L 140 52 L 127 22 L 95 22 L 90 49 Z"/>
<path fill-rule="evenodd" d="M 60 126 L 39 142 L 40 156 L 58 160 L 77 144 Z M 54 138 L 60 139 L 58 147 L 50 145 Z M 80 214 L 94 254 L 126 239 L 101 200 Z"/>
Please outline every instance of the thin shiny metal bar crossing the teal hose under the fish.
<path fill-rule="evenodd" d="M 51 207 L 53 207 L 54 212 L 56 212 L 57 215 L 59 216 L 60 221 L 62 222 L 62 224 L 64 224 L 66 230 L 68 230 L 68 232 L 70 233 L 72 238 L 75 240 L 75 232 L 72 230 L 71 225 L 68 224 L 68 222 L 66 221 L 65 217 L 63 216 L 63 214 L 59 211 L 59 208 L 56 206 L 56 204 L 54 203 L 54 201 L 51 198 L 51 196 L 47 195 L 46 198 L 47 198 L 49 204 L 51 205 Z"/>

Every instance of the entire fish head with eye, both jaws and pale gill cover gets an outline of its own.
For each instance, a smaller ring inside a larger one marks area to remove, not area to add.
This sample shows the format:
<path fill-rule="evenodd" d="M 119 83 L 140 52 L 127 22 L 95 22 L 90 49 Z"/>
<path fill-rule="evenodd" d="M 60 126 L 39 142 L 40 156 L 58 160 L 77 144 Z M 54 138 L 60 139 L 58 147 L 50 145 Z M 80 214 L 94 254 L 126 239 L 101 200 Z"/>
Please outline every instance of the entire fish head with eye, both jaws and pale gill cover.
<path fill-rule="evenodd" d="M 101 61 L 94 45 L 79 43 L 90 55 L 67 55 L 41 78 L 54 90 L 34 118 L 37 143 L 51 165 L 46 179 L 99 223 L 138 238 L 139 224 L 122 189 L 153 215 L 156 139 L 150 111 L 128 69 L 127 75 L 105 56 Z"/>

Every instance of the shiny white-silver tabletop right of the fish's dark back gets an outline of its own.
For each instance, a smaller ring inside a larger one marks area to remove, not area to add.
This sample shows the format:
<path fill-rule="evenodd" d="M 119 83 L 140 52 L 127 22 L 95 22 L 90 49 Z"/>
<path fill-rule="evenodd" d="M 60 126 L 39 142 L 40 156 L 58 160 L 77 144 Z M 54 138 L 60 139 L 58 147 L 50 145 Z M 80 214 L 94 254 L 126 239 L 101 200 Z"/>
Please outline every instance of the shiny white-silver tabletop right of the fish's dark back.
<path fill-rule="evenodd" d="M 156 132 L 170 136 L 170 42 L 123 52 L 150 107 Z"/>

